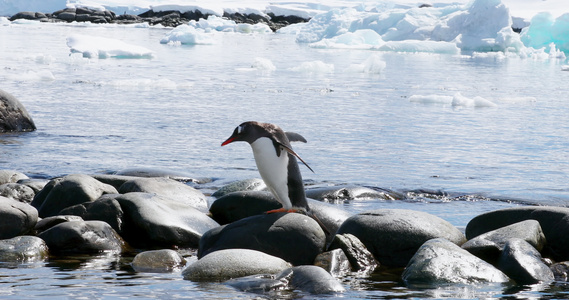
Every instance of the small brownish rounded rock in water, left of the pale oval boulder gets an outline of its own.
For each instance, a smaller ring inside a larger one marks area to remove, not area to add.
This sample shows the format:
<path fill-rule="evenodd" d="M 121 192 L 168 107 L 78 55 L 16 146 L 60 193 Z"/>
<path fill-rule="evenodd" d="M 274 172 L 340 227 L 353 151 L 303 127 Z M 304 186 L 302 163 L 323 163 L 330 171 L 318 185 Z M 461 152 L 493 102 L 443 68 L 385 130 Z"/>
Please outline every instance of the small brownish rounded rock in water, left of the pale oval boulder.
<path fill-rule="evenodd" d="M 145 251 L 132 260 L 136 272 L 169 273 L 181 270 L 186 260 L 178 252 L 170 249 Z"/>

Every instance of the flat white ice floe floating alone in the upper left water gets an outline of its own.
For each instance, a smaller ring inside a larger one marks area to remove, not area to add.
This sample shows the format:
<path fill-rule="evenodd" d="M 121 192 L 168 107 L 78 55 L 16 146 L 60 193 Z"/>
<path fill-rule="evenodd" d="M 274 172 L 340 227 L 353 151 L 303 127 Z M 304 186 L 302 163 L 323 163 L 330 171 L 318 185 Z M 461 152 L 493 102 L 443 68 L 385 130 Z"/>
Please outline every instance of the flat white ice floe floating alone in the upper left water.
<path fill-rule="evenodd" d="M 121 40 L 100 36 L 74 34 L 67 38 L 72 53 L 82 53 L 86 58 L 152 58 L 154 53 L 144 47 Z"/>

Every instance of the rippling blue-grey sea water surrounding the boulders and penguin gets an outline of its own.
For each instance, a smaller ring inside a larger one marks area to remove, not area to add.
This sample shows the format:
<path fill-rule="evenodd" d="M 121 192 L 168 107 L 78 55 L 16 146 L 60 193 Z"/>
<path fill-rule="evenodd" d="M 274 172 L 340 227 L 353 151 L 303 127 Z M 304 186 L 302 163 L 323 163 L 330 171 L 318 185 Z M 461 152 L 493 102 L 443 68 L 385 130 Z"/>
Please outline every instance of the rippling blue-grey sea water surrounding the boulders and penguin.
<path fill-rule="evenodd" d="M 293 144 L 315 170 L 301 166 L 307 185 L 409 193 L 405 201 L 338 204 L 352 213 L 415 209 L 464 229 L 486 211 L 568 203 L 565 60 L 321 49 L 287 34 L 222 33 L 210 45 L 161 44 L 169 31 L 0 26 L 0 88 L 24 104 L 38 127 L 0 135 L 0 168 L 51 178 L 156 167 L 205 178 L 197 187 L 213 191 L 259 177 L 246 143 L 220 147 L 237 125 L 256 120 L 308 140 Z M 74 34 L 118 39 L 154 54 L 85 58 L 66 44 Z M 129 262 L 103 255 L 5 266 L 0 297 L 256 296 L 184 281 L 179 273 L 136 273 Z M 567 291 L 556 285 L 414 290 L 390 276 L 342 280 L 343 297 L 362 299 Z"/>

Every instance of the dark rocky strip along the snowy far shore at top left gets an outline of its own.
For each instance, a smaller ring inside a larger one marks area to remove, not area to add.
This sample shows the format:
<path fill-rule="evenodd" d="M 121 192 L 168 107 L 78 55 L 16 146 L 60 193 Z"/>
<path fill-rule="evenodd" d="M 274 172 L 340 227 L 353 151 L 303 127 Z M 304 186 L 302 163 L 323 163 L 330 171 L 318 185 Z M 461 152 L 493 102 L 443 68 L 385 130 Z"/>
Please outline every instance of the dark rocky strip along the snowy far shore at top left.
<path fill-rule="evenodd" d="M 91 22 L 95 24 L 137 24 L 148 23 L 149 25 L 161 24 L 165 27 L 176 27 L 187 24 L 189 21 L 199 21 L 201 18 L 207 19 L 210 14 L 203 14 L 199 10 L 180 12 L 177 10 L 155 12 L 149 10 L 139 15 L 122 14 L 117 15 L 112 11 L 98 11 L 89 8 L 65 8 L 53 13 L 41 12 L 19 12 L 9 18 L 10 21 L 25 19 L 40 22 Z M 267 15 L 223 13 L 223 18 L 233 20 L 236 23 L 267 24 L 273 31 L 294 23 L 308 22 L 298 16 L 275 16 L 273 13 Z"/>

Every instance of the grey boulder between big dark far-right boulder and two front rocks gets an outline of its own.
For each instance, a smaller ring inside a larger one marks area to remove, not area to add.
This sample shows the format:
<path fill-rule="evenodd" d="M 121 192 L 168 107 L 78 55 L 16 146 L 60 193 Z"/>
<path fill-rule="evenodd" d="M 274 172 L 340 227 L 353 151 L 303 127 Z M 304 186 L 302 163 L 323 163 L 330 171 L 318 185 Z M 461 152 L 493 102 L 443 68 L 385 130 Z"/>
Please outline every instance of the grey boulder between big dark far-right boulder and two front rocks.
<path fill-rule="evenodd" d="M 496 264 L 504 245 L 512 238 L 523 239 L 538 251 L 545 245 L 545 235 L 536 220 L 527 220 L 483 233 L 462 245 L 468 252 Z"/>

